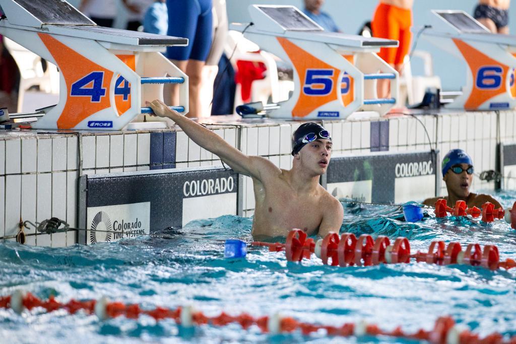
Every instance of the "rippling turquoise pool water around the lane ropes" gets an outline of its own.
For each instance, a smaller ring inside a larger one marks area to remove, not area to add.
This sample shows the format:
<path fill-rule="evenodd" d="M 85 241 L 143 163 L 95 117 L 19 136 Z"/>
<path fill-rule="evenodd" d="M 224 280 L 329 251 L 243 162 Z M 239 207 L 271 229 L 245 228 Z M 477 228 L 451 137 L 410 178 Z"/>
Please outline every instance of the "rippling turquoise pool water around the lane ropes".
<path fill-rule="evenodd" d="M 498 193 L 511 207 L 516 192 Z M 516 258 L 516 232 L 505 222 L 435 219 L 395 220 L 391 206 L 343 203 L 341 233 L 374 238 L 405 236 L 411 251 L 427 251 L 432 240 L 496 244 L 501 260 Z M 431 213 L 431 211 L 430 211 Z M 471 266 L 424 263 L 370 267 L 323 266 L 312 255 L 302 264 L 287 263 L 283 252 L 248 248 L 245 259 L 224 259 L 228 238 L 251 241 L 249 218 L 223 216 L 193 221 L 162 238 L 140 237 L 86 247 L 40 248 L 0 243 L 0 296 L 16 289 L 61 302 L 99 299 L 137 303 L 143 308 L 192 305 L 209 316 L 223 310 L 254 317 L 281 313 L 299 321 L 342 325 L 365 319 L 384 330 L 401 325 L 406 332 L 430 330 L 443 315 L 452 316 L 482 336 L 493 331 L 516 335 L 516 269 L 490 271 Z M 22 315 L 0 309 L 0 342 L 410 342 L 387 337 L 328 338 L 324 333 L 271 336 L 237 324 L 181 330 L 173 320 L 69 315 L 41 309 Z"/>

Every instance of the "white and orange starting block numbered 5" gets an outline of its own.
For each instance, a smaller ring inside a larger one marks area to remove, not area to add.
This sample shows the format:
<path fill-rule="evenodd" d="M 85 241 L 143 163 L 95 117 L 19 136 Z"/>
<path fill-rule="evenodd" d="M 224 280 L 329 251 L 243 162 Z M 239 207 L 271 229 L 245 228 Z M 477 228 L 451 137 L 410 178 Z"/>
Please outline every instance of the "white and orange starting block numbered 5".
<path fill-rule="evenodd" d="M 232 24 L 263 50 L 294 68 L 294 93 L 271 118 L 345 119 L 355 111 L 384 114 L 398 96 L 398 73 L 376 53 L 398 41 L 328 32 L 294 6 L 250 5 L 253 24 Z M 379 73 L 382 71 L 382 73 Z M 378 99 L 376 80 L 389 79 L 391 98 Z"/>

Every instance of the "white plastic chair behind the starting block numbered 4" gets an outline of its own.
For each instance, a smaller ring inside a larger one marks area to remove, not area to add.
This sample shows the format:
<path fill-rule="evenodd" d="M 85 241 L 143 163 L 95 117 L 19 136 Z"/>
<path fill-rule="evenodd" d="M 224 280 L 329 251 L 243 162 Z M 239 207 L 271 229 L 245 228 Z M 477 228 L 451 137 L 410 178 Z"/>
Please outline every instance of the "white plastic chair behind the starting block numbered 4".
<path fill-rule="evenodd" d="M 47 61 L 47 68 L 43 72 L 40 56 L 7 37 L 4 37 L 4 45 L 20 70 L 18 112 L 23 110 L 25 91 L 32 86 L 39 86 L 39 89 L 45 93 L 59 93 L 59 72 L 54 64 Z"/>

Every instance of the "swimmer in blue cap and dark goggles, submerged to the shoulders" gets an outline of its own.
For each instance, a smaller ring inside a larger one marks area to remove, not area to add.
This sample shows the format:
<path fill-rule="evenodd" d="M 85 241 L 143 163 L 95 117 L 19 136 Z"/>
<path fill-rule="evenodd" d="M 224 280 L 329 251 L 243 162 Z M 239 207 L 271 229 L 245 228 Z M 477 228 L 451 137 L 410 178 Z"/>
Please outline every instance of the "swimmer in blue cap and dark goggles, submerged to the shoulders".
<path fill-rule="evenodd" d="M 488 194 L 477 194 L 470 192 L 473 182 L 473 160 L 461 149 L 449 151 L 443 158 L 441 164 L 443 181 L 446 183 L 448 196 L 444 197 L 448 205 L 453 206 L 459 200 L 465 201 L 468 207 L 482 207 L 482 204 L 491 202 L 495 208 L 501 207 L 500 203 Z M 438 199 L 443 197 L 430 198 L 423 203 L 434 206 Z"/>

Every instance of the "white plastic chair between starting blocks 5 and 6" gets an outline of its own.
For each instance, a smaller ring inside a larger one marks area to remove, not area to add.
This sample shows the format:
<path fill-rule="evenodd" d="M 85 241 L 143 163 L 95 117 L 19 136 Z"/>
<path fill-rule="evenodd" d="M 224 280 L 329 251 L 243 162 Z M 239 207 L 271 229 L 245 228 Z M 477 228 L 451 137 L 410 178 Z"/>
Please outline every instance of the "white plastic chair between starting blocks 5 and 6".
<path fill-rule="evenodd" d="M 402 75 L 400 77 L 400 96 L 397 106 L 405 106 L 408 100 L 409 105 L 419 104 L 423 101 L 425 92 L 429 87 L 441 88 L 441 78 L 433 75 L 432 56 L 423 50 L 416 50 L 412 53 L 412 59 L 421 58 L 423 60 L 423 75 L 412 75 L 411 61 L 409 56 L 405 56 Z"/>

